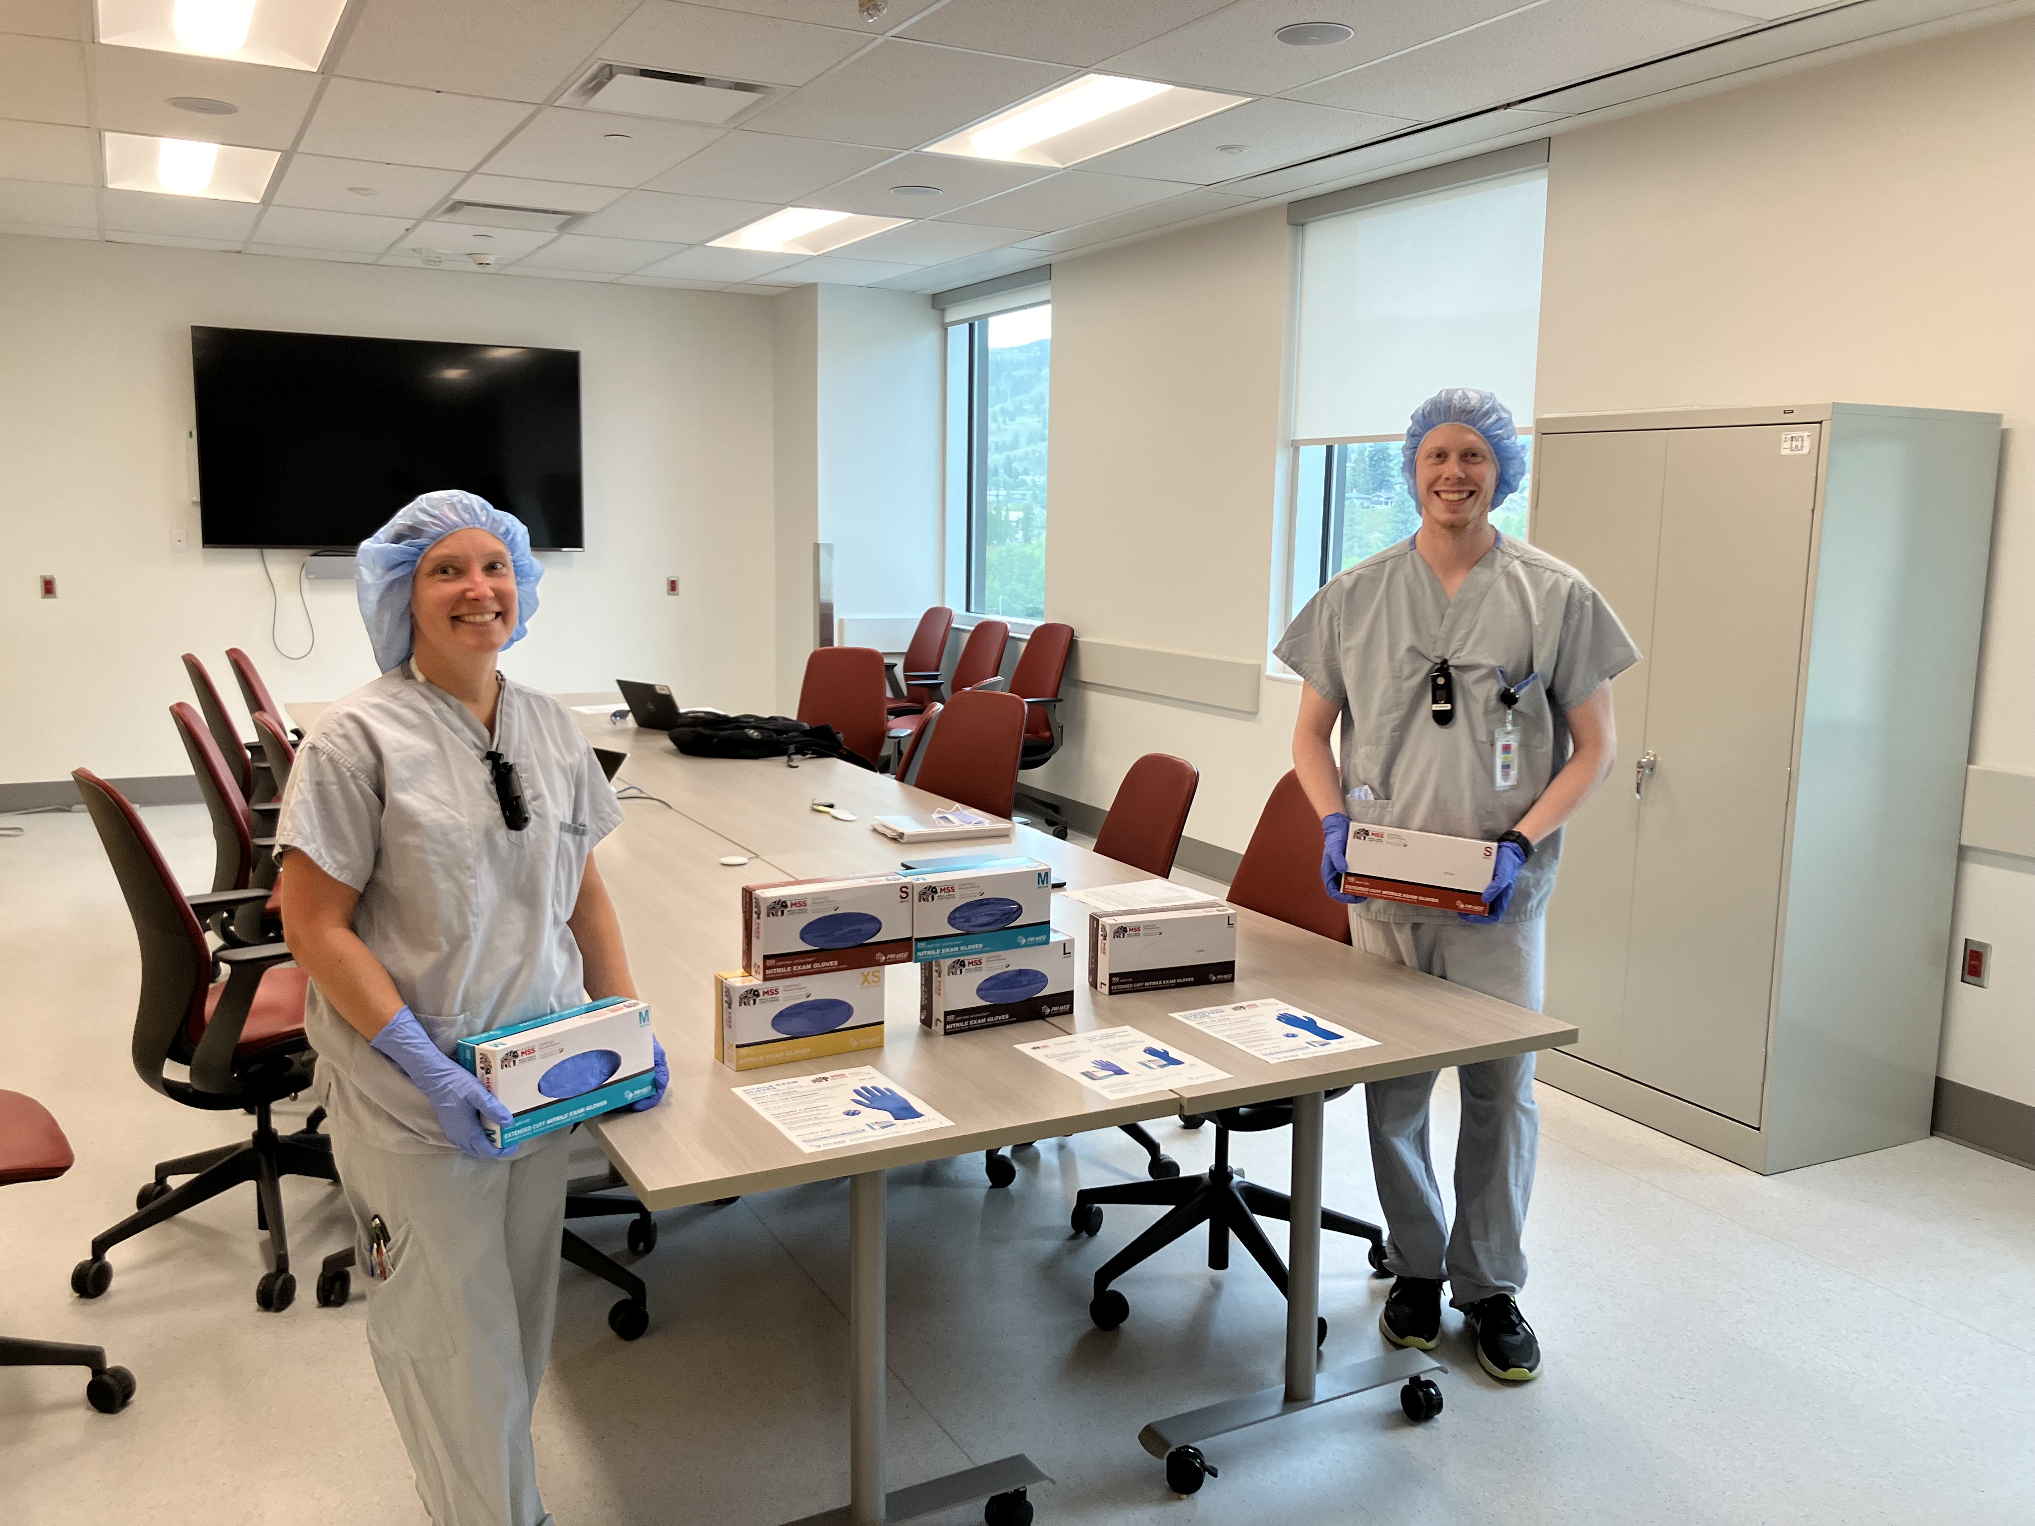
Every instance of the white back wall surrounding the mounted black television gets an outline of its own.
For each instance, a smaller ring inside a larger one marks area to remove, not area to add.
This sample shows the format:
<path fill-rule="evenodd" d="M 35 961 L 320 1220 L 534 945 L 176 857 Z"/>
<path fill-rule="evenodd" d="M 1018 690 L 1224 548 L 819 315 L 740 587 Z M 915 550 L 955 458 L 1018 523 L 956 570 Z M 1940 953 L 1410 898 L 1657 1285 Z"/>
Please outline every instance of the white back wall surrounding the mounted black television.
<path fill-rule="evenodd" d="M 0 783 L 189 773 L 163 714 L 191 698 L 181 651 L 236 712 L 232 645 L 283 704 L 374 678 L 352 584 L 307 584 L 317 649 L 291 663 L 269 643 L 256 553 L 197 549 L 191 324 L 580 350 L 588 549 L 543 557 L 541 610 L 505 671 L 769 698 L 769 643 L 729 639 L 755 606 L 729 570 L 771 557 L 769 299 L 0 238 Z M 189 551 L 171 551 L 175 527 Z M 299 555 L 269 562 L 299 651 Z M 55 602 L 37 596 L 45 572 Z"/>

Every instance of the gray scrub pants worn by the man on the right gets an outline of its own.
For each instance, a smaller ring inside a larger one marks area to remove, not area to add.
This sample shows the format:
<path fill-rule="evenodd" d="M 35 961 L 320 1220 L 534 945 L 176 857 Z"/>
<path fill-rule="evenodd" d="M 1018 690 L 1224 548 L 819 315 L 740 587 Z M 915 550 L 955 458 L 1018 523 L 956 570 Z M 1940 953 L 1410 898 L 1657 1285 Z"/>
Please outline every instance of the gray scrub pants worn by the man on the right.
<path fill-rule="evenodd" d="M 1351 914 L 1359 950 L 1410 964 L 1471 991 L 1540 1011 L 1543 932 L 1530 922 L 1372 922 Z M 1526 1284 L 1526 1200 L 1540 1146 L 1532 1101 L 1532 1054 L 1459 1066 L 1461 1127 L 1455 1139 L 1455 1227 L 1443 1217 L 1441 1184 L 1427 1143 L 1435 1072 L 1370 1080 L 1372 1172 L 1386 1215 L 1386 1266 L 1402 1278 L 1447 1278 L 1457 1308 Z"/>

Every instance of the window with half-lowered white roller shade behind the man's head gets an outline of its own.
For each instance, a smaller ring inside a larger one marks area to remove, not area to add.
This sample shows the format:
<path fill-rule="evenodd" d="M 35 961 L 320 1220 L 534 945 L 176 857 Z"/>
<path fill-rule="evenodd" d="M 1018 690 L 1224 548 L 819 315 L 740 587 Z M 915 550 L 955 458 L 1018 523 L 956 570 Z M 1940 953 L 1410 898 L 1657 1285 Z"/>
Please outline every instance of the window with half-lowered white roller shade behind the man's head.
<path fill-rule="evenodd" d="M 1532 460 L 1547 173 L 1453 185 L 1300 232 L 1286 617 L 1420 527 L 1400 478 L 1406 417 L 1443 387 L 1498 393 Z M 1530 482 L 1492 523 L 1526 535 Z"/>

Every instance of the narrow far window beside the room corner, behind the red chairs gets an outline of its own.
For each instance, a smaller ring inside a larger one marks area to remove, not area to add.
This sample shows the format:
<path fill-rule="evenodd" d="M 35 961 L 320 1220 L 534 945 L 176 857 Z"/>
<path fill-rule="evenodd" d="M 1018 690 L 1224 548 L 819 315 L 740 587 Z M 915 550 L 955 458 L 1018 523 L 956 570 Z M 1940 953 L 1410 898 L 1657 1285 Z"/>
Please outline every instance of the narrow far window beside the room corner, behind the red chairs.
<path fill-rule="evenodd" d="M 1052 303 L 946 330 L 946 460 L 973 614 L 1046 619 Z"/>

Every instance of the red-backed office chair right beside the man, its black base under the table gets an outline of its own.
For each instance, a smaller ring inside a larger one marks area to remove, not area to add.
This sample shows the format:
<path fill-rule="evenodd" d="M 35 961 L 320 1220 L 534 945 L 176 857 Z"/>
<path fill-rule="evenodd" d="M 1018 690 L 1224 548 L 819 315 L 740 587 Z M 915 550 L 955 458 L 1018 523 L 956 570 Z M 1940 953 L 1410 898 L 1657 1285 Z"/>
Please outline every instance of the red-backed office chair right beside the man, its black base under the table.
<path fill-rule="evenodd" d="M 1229 901 L 1347 944 L 1349 912 L 1339 901 L 1331 901 L 1321 887 L 1319 863 L 1321 820 L 1300 789 L 1300 777 L 1288 771 L 1272 789 L 1272 798 L 1258 818 L 1258 830 L 1252 832 L 1243 863 L 1237 865 L 1237 877 L 1229 885 Z M 1329 1097 L 1341 1097 L 1347 1091 L 1349 1087 L 1339 1087 Z M 1097 1270 L 1089 1318 L 1099 1329 L 1113 1331 L 1131 1312 L 1129 1300 L 1109 1284 L 1203 1223 L 1209 1225 L 1209 1268 L 1213 1272 L 1229 1266 L 1229 1237 L 1235 1235 L 1280 1294 L 1286 1292 L 1286 1264 L 1258 1227 L 1258 1217 L 1290 1221 L 1292 1198 L 1243 1180 L 1243 1174 L 1229 1164 L 1229 1135 L 1288 1127 L 1292 1101 L 1225 1107 L 1211 1117 L 1215 1121 L 1215 1162 L 1207 1172 L 1164 1182 L 1091 1186 L 1074 1196 L 1072 1227 L 1077 1235 L 1093 1235 L 1103 1227 L 1105 1202 L 1166 1207 L 1158 1223 L 1146 1227 Z M 1201 1119 L 1182 1119 L 1182 1123 L 1199 1127 Z M 1368 1239 L 1372 1270 L 1378 1276 L 1388 1276 L 1386 1235 L 1378 1225 L 1323 1209 L 1321 1227 Z M 1317 1343 L 1327 1335 L 1329 1320 L 1321 1320 Z"/>

